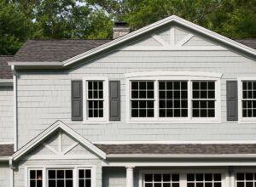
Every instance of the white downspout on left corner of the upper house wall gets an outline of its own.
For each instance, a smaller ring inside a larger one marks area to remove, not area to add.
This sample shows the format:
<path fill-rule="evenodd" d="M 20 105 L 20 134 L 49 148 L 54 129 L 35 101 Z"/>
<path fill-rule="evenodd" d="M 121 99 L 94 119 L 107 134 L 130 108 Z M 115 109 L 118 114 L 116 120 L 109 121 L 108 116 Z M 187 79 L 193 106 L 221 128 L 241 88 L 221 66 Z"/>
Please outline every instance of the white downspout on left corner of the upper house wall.
<path fill-rule="evenodd" d="M 14 151 L 17 151 L 17 74 L 15 65 L 12 65 L 13 79 L 14 79 Z"/>

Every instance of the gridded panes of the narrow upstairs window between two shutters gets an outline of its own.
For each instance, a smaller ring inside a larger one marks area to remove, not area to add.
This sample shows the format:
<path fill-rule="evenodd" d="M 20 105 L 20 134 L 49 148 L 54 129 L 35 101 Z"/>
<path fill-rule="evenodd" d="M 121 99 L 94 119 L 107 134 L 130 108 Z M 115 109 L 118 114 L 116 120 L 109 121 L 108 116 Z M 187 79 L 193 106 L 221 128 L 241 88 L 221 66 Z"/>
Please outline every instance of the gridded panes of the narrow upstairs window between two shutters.
<path fill-rule="evenodd" d="M 87 81 L 87 112 L 89 118 L 104 116 L 103 81 Z"/>

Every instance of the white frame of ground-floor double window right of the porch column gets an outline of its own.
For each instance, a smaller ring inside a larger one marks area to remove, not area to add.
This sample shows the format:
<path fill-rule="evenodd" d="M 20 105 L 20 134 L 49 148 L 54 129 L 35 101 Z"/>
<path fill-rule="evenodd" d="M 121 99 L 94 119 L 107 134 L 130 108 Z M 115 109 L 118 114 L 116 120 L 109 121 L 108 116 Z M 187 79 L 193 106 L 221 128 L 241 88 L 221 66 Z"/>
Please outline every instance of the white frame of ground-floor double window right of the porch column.
<path fill-rule="evenodd" d="M 139 187 L 143 186 L 143 176 L 144 174 L 151 174 L 151 173 L 172 173 L 172 174 L 179 174 L 179 187 L 187 187 L 187 174 L 188 173 L 221 173 L 221 186 L 229 186 L 229 179 L 228 179 L 228 172 L 225 169 L 196 169 L 196 168 L 187 168 L 187 169 L 163 169 L 163 170 L 141 170 L 139 172 Z"/>

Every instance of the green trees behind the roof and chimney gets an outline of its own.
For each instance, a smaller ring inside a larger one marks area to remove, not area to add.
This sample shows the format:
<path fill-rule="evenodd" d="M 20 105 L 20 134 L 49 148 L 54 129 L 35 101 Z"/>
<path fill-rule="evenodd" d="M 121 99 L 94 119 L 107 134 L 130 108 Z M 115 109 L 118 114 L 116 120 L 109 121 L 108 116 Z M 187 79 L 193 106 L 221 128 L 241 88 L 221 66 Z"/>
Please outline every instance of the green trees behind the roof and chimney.
<path fill-rule="evenodd" d="M 256 0 L 0 0 L 0 54 L 27 38 L 111 38 L 113 20 L 137 30 L 172 14 L 233 39 L 256 37 Z"/>

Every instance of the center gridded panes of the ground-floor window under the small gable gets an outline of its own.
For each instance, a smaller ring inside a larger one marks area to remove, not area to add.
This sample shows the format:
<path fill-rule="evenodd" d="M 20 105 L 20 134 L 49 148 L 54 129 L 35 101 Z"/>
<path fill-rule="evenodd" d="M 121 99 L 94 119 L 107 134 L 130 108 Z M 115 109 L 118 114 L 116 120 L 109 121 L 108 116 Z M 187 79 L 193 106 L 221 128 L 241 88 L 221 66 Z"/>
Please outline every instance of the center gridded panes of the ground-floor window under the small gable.
<path fill-rule="evenodd" d="M 73 187 L 73 169 L 49 169 L 48 187 Z"/>

